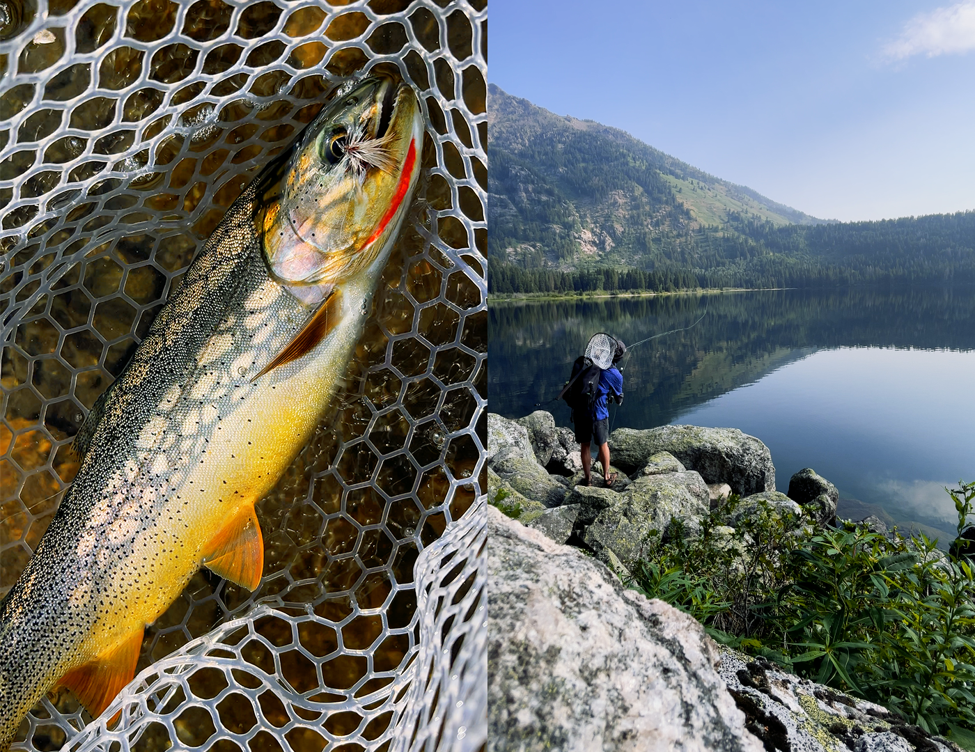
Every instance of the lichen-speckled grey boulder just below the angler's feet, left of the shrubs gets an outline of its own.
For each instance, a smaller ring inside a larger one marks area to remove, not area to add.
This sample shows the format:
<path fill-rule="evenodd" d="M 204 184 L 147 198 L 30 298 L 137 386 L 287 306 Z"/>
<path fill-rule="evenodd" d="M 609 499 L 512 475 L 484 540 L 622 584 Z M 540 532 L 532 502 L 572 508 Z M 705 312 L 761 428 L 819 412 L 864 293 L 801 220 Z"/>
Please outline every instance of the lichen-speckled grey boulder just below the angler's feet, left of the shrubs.
<path fill-rule="evenodd" d="M 674 535 L 683 527 L 684 536 L 696 537 L 710 508 L 708 487 L 692 470 L 642 476 L 622 494 L 576 486 L 566 503 L 581 504 L 574 534 L 604 563 L 612 551 L 628 569 L 643 556 L 652 531 Z"/>

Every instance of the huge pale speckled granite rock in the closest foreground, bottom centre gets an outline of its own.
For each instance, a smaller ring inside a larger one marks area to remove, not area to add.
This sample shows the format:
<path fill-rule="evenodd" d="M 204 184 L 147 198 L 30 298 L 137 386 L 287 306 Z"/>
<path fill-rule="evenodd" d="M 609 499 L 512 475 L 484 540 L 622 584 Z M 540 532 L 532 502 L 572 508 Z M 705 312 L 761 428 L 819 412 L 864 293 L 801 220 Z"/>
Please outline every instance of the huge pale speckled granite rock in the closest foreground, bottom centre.
<path fill-rule="evenodd" d="M 488 750 L 761 752 L 700 624 L 487 513 Z"/>

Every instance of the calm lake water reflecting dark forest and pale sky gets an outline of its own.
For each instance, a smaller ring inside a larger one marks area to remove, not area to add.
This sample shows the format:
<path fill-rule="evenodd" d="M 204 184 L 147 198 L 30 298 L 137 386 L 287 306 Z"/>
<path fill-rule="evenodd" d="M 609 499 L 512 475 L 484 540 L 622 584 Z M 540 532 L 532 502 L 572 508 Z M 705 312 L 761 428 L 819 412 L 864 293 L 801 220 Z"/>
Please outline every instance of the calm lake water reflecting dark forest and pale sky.
<path fill-rule="evenodd" d="M 945 486 L 975 480 L 975 290 L 761 291 L 492 302 L 489 409 L 538 410 L 596 332 L 631 349 L 613 428 L 730 426 L 771 450 L 776 487 L 812 467 L 840 513 L 917 523 L 942 545 Z M 542 406 L 571 425 L 565 404 Z M 928 530 L 930 529 L 930 530 Z"/>

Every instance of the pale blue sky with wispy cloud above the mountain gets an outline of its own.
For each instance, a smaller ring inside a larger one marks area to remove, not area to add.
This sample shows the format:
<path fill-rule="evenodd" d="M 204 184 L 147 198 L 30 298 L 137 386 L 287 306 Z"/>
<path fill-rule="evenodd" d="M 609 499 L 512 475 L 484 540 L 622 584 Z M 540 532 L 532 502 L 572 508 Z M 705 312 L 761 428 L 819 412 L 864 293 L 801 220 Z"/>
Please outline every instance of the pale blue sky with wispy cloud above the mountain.
<path fill-rule="evenodd" d="M 975 209 L 975 0 L 490 0 L 488 78 L 821 218 Z"/>

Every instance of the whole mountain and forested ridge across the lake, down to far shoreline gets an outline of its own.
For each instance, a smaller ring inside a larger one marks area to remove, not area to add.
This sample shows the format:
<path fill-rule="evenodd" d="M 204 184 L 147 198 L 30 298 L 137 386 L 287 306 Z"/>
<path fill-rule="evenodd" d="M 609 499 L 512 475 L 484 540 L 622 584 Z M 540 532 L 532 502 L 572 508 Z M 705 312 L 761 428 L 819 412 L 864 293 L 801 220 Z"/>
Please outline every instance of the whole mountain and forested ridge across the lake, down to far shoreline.
<path fill-rule="evenodd" d="M 494 85 L 487 118 L 492 292 L 975 281 L 975 212 L 814 218 Z"/>

